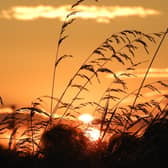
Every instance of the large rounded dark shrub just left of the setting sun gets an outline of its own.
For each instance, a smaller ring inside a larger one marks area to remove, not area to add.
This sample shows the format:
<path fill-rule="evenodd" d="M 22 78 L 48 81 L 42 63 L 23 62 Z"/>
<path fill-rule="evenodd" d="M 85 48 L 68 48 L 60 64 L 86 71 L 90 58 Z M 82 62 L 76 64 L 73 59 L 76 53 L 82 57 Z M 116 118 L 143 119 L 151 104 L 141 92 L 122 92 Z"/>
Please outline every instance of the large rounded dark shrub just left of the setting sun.
<path fill-rule="evenodd" d="M 57 162 L 61 167 L 77 167 L 79 162 L 86 159 L 88 142 L 77 128 L 58 124 L 42 135 L 44 159 L 51 166 Z"/>

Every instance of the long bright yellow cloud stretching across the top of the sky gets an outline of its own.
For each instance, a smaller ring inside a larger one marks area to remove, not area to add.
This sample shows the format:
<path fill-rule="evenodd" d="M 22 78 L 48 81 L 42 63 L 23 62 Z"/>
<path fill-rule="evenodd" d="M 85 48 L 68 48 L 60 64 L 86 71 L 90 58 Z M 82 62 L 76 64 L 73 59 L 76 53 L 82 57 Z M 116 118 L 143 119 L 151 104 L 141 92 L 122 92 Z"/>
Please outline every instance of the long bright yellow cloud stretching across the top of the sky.
<path fill-rule="evenodd" d="M 0 12 L 0 17 L 16 20 L 35 20 L 39 18 L 63 20 L 70 10 L 70 5 L 54 6 L 14 6 Z M 159 15 L 154 9 L 146 9 L 141 6 L 86 6 L 76 7 L 75 17 L 80 19 L 92 19 L 97 22 L 109 23 L 111 19 L 124 16 L 146 17 L 148 15 Z"/>

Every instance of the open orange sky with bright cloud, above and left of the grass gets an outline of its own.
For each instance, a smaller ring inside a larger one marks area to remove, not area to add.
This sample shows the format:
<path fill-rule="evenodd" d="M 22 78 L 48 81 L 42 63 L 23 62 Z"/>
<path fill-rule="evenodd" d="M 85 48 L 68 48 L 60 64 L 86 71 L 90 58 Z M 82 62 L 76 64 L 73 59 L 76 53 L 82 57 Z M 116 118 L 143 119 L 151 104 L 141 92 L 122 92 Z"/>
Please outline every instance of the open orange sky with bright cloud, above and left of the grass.
<path fill-rule="evenodd" d="M 30 105 L 34 98 L 50 95 L 61 22 L 74 2 L 0 1 L 0 96 L 6 104 Z M 167 0 L 86 0 L 78 10 L 83 13 L 68 27 L 69 38 L 60 50 L 74 57 L 58 68 L 56 95 L 80 63 L 110 34 L 125 29 L 153 33 L 168 27 Z M 168 39 L 154 62 L 151 77 L 159 74 L 158 78 L 168 79 L 167 51 Z"/>

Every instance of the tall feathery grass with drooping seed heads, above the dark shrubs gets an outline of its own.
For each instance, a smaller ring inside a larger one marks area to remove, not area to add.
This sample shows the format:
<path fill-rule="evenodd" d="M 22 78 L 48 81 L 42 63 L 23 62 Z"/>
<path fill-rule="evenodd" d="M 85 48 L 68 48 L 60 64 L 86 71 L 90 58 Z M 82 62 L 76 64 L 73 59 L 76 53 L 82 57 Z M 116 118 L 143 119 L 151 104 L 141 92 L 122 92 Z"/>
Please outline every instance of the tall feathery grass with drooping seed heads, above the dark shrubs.
<path fill-rule="evenodd" d="M 80 114 L 82 108 L 86 106 L 94 106 L 93 114 L 101 114 L 96 127 L 101 132 L 100 140 L 103 141 L 106 135 L 122 134 L 130 132 L 138 135 L 142 130 L 149 126 L 155 120 L 167 117 L 167 101 L 168 95 L 162 94 L 161 88 L 168 88 L 168 81 L 155 81 L 145 84 L 149 70 L 152 67 L 159 49 L 166 38 L 168 29 L 159 33 L 144 33 L 137 30 L 123 30 L 121 32 L 112 33 L 100 45 L 93 49 L 77 71 L 68 81 L 65 90 L 57 97 L 55 89 L 57 89 L 57 67 L 63 63 L 64 59 L 72 57 L 70 54 L 61 54 L 61 45 L 69 37 L 66 30 L 76 20 L 75 15 L 80 12 L 75 8 L 85 0 L 75 2 L 70 12 L 65 16 L 59 38 L 56 44 L 56 55 L 53 67 L 53 77 L 51 93 L 48 96 L 38 97 L 33 101 L 31 107 L 23 107 L 13 111 L 12 114 L 6 114 L 1 118 L 0 134 L 10 131 L 8 148 L 24 153 L 35 155 L 39 153 L 41 146 L 41 137 L 48 128 L 65 118 L 76 117 Z M 96 0 L 95 0 L 96 1 Z M 161 39 L 161 40 L 160 40 Z M 159 41 L 159 45 L 157 43 Z M 138 52 L 141 51 L 145 55 L 150 55 L 150 45 L 156 46 L 156 51 L 146 68 L 146 73 L 135 90 L 129 90 L 127 78 L 135 76 L 134 72 L 138 66 L 146 62 L 146 60 L 137 60 Z M 119 65 L 121 71 L 116 72 L 112 65 Z M 98 83 L 104 84 L 102 75 L 109 74 L 111 76 L 110 85 L 107 85 L 103 95 L 98 101 L 82 101 L 82 93 L 89 92 L 89 85 L 94 85 L 94 78 Z M 64 102 L 66 95 L 72 89 L 76 89 L 69 102 Z M 159 99 L 145 100 L 145 91 L 157 92 Z M 122 104 L 126 99 L 132 96 L 132 103 Z M 50 112 L 46 112 L 40 106 L 45 98 L 50 99 Z M 137 100 L 143 100 L 142 103 Z M 164 103 L 163 103 L 164 102 Z M 76 103 L 76 104 L 75 104 Z M 0 105 L 3 105 L 0 97 Z M 63 109 L 63 113 L 58 118 L 54 115 Z M 76 119 L 77 121 L 77 119 Z M 138 128 L 134 128 L 137 127 Z M 23 128 L 22 130 L 20 128 Z"/>

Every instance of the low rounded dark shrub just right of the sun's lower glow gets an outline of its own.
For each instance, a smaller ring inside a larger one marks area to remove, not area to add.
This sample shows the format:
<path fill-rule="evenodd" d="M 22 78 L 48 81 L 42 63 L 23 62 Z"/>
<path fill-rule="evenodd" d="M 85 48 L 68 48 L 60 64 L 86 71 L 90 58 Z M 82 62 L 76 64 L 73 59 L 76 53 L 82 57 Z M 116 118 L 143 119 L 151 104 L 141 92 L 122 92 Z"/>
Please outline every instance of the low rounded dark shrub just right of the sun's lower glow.
<path fill-rule="evenodd" d="M 137 160 L 141 141 L 129 133 L 112 136 L 107 147 L 107 167 L 132 167 Z"/>

